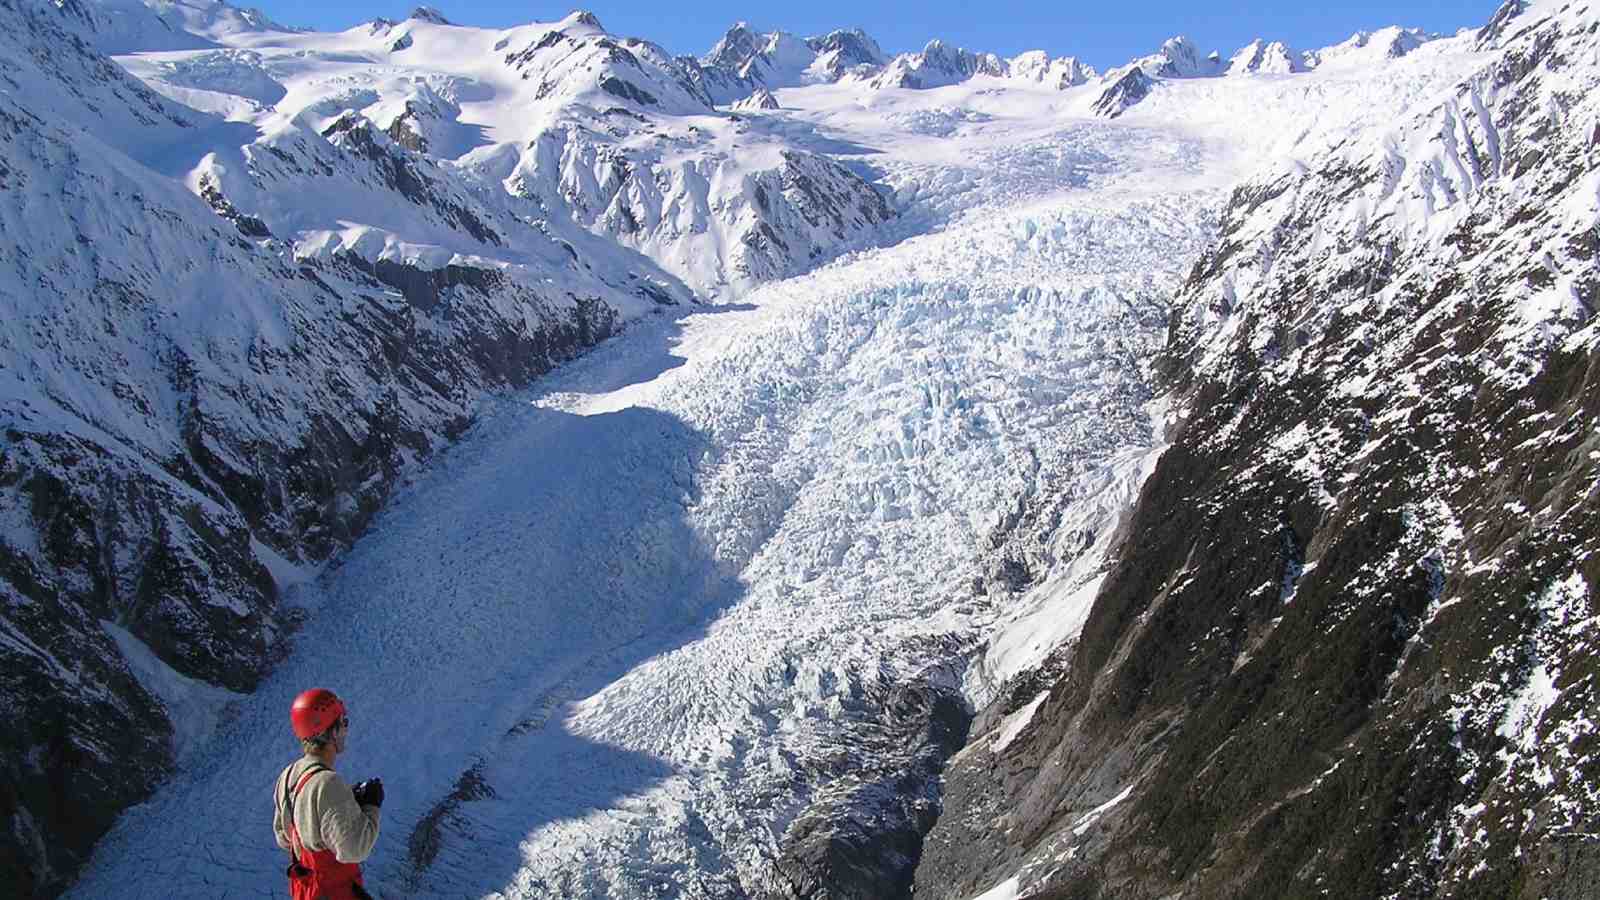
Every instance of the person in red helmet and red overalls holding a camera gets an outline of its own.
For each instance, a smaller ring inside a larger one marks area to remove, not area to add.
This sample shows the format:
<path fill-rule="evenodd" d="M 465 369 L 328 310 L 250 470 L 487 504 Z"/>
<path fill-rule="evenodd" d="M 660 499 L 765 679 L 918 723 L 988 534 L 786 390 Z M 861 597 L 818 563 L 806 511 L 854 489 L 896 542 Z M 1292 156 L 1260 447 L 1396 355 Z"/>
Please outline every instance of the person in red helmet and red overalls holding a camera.
<path fill-rule="evenodd" d="M 290 724 L 306 756 L 278 775 L 272 804 L 272 831 L 290 852 L 290 897 L 368 900 L 360 863 L 378 842 L 384 783 L 371 778 L 352 788 L 333 770 L 350 717 L 331 690 L 314 687 L 296 697 Z"/>

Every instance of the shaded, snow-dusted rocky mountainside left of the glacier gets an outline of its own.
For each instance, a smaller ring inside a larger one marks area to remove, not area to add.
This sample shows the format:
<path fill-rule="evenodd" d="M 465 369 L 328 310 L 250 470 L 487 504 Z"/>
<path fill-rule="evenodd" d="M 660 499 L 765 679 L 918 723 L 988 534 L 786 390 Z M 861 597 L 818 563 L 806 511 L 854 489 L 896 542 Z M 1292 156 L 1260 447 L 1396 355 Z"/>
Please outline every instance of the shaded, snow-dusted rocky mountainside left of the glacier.
<path fill-rule="evenodd" d="M 0 879 L 24 897 L 59 889 L 179 749 L 128 636 L 250 690 L 294 626 L 274 569 L 344 548 L 478 394 L 656 306 L 542 235 L 518 242 L 536 266 L 293 256 L 277 218 L 128 155 L 221 125 L 94 53 L 94 22 L 0 3 Z M 339 122 L 264 146 L 253 176 L 392 195 L 490 245 L 530 231 Z"/>

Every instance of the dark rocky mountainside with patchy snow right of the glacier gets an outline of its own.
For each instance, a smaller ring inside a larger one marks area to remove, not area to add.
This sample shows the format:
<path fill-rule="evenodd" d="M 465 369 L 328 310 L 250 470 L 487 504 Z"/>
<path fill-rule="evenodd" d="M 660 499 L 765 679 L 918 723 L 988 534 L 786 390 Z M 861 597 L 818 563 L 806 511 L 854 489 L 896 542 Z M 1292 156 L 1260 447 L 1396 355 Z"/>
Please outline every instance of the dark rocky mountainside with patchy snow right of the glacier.
<path fill-rule="evenodd" d="M 1512 0 L 1477 43 L 1234 192 L 1171 445 L 917 897 L 1597 895 L 1600 26 Z"/>

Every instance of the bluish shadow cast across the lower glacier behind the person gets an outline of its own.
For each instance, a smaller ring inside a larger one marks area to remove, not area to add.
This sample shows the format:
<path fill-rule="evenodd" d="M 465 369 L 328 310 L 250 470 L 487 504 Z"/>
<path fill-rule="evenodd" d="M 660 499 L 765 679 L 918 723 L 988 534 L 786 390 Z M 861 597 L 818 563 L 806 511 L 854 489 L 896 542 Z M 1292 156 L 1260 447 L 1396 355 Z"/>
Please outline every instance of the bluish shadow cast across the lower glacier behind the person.
<path fill-rule="evenodd" d="M 614 389 L 683 362 L 666 349 L 675 320 L 645 328 L 658 335 L 602 346 L 541 391 Z M 125 814 L 98 854 L 110 865 L 77 889 L 282 895 L 270 785 L 298 754 L 290 701 L 312 685 L 349 705 L 339 772 L 387 788 L 366 866 L 381 897 L 502 887 L 531 831 L 669 777 L 666 761 L 571 733 L 565 714 L 738 601 L 686 517 L 706 450 L 659 410 L 506 404 L 294 591 L 306 609 L 294 652 Z"/>

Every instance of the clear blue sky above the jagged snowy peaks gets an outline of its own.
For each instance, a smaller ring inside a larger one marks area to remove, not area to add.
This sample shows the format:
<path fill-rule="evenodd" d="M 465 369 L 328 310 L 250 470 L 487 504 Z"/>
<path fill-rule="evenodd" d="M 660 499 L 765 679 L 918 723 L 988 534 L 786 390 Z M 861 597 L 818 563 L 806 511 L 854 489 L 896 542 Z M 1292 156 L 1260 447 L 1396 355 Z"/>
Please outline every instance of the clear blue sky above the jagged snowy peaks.
<path fill-rule="evenodd" d="M 232 0 L 259 6 L 288 26 L 342 30 L 376 16 L 405 18 L 418 3 L 395 0 Z M 565 16 L 571 5 L 509 3 L 502 0 L 434 0 L 429 3 L 464 26 L 504 27 Z M 1494 13 L 1496 0 L 1355 0 L 1310 8 L 1307 3 L 1230 2 L 1179 3 L 1173 0 L 1072 3 L 1029 0 L 1008 3 L 848 3 L 810 0 L 795 5 L 750 0 L 594 0 L 586 8 L 613 34 L 643 37 L 672 53 L 701 54 L 739 19 L 763 30 L 782 29 L 802 37 L 835 27 L 862 27 L 883 50 L 920 50 L 930 38 L 1011 56 L 1024 50 L 1048 50 L 1053 56 L 1078 56 L 1110 67 L 1154 51 L 1186 34 L 1202 50 L 1227 56 L 1254 37 L 1283 40 L 1298 50 L 1338 43 L 1355 30 L 1390 24 L 1454 32 L 1477 27 Z M 981 11 L 974 13 L 973 8 Z M 1315 5 L 1320 6 L 1320 5 Z"/>

